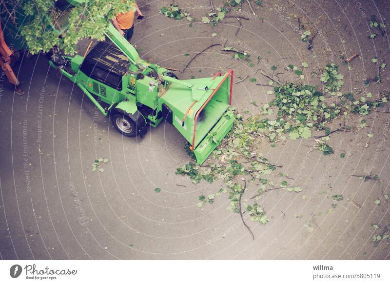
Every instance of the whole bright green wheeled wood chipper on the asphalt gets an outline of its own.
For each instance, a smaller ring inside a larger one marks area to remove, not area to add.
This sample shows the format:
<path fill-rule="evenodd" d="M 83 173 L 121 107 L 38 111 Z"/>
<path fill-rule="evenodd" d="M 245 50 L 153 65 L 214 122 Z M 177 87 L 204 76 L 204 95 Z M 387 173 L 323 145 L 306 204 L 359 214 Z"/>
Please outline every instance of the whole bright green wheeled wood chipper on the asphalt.
<path fill-rule="evenodd" d="M 50 64 L 110 116 L 121 134 L 143 137 L 148 125 L 169 122 L 202 164 L 233 127 L 233 70 L 178 80 L 168 69 L 142 60 L 114 26 L 105 34 L 110 42 L 98 42 L 85 58 L 54 54 Z"/>

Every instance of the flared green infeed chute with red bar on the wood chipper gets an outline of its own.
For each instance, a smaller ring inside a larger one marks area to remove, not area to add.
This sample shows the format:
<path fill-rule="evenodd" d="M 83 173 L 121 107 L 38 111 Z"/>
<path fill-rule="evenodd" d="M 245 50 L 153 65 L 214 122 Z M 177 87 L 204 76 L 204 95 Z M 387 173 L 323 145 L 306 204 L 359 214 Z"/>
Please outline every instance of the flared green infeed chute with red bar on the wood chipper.
<path fill-rule="evenodd" d="M 221 76 L 194 80 L 174 80 L 161 96 L 170 109 L 172 124 L 190 143 L 196 162 L 202 164 L 232 129 L 233 70 Z"/>

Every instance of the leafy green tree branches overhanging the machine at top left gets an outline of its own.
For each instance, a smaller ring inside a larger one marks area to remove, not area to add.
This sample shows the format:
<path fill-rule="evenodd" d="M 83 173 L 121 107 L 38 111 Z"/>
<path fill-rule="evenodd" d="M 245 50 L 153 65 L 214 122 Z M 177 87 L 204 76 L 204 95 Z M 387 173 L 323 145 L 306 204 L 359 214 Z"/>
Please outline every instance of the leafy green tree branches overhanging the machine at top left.
<path fill-rule="evenodd" d="M 15 5 L 20 5 L 14 0 Z M 30 18 L 20 27 L 30 53 L 48 52 L 56 45 L 65 54 L 73 55 L 80 39 L 104 39 L 104 31 L 117 13 L 134 9 L 134 0 L 75 0 L 60 10 L 55 0 L 24 0 L 23 11 Z M 79 3 L 83 2 L 83 3 Z M 68 25 L 63 26 L 63 18 Z M 61 27 L 62 29 L 60 29 Z"/>

